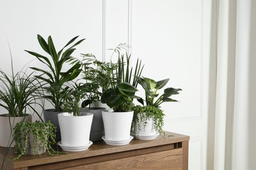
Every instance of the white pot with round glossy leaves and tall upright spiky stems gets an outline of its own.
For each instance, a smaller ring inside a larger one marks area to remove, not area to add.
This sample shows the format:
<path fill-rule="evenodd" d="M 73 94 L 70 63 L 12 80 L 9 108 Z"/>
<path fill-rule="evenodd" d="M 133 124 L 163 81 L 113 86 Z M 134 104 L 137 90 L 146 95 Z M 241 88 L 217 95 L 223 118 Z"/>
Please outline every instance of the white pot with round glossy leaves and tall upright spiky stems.
<path fill-rule="evenodd" d="M 113 74 L 116 84 L 102 93 L 101 97 L 101 102 L 113 109 L 113 111 L 102 111 L 105 129 L 102 139 L 111 145 L 128 144 L 133 139 L 130 136 L 133 99 L 140 99 L 140 97 L 135 95 L 137 79 L 132 76 L 140 76 L 143 69 L 141 61 L 137 59 L 135 71 L 133 71 L 133 67 L 129 65 L 131 55 L 128 55 L 127 52 L 118 54 L 117 69 Z"/>

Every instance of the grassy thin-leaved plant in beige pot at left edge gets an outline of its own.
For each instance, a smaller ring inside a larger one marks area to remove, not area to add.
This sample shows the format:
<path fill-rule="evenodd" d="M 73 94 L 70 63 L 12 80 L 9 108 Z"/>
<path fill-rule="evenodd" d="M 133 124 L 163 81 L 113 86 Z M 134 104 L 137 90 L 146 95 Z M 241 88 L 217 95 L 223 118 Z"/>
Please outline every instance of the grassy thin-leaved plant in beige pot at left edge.
<path fill-rule="evenodd" d="M 32 114 L 39 112 L 36 106 L 43 107 L 39 97 L 40 82 L 33 77 L 33 73 L 19 71 L 14 74 L 11 56 L 11 75 L 0 70 L 0 107 L 7 110 L 0 115 L 0 146 L 14 147 L 12 138 L 13 127 L 18 122 L 31 122 Z M 32 114 L 28 114 L 32 112 Z"/>

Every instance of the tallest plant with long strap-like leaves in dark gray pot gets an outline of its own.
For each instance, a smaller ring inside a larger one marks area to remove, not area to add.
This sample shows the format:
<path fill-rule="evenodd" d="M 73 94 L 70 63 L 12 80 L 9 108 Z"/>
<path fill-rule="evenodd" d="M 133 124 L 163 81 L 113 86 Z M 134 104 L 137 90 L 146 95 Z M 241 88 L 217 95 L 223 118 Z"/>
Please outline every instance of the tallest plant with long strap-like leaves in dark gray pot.
<path fill-rule="evenodd" d="M 78 36 L 77 36 L 78 37 Z M 45 99 L 50 101 L 54 109 L 46 109 L 43 110 L 43 116 L 45 122 L 51 120 L 54 126 L 57 127 L 56 131 L 56 140 L 60 140 L 60 127 L 58 125 L 58 113 L 62 112 L 62 105 L 64 102 L 64 95 L 68 90 L 68 86 L 64 86 L 66 82 L 74 80 L 76 78 L 81 69 L 81 65 L 79 63 L 75 63 L 72 65 L 68 71 L 64 71 L 65 63 L 68 63 L 72 59 L 72 53 L 75 50 L 75 46 L 80 44 L 85 39 L 81 39 L 77 42 L 74 42 L 77 37 L 71 39 L 58 53 L 56 52 L 53 39 L 51 36 L 48 37 L 48 41 L 46 42 L 41 35 L 37 35 L 37 40 L 43 48 L 43 50 L 47 53 L 47 56 L 44 54 L 37 54 L 36 52 L 31 52 L 25 50 L 32 56 L 35 56 L 43 65 L 47 67 L 39 68 L 39 67 L 31 67 L 33 70 L 39 72 L 40 74 L 35 76 L 39 78 L 39 80 L 43 80 L 45 82 L 45 86 L 43 89 L 45 90 L 45 95 L 43 96 Z M 74 42 L 74 44 L 72 44 Z M 71 45 L 72 44 L 72 45 Z M 68 47 L 69 46 L 69 47 Z M 67 48 L 67 49 L 65 49 Z"/>

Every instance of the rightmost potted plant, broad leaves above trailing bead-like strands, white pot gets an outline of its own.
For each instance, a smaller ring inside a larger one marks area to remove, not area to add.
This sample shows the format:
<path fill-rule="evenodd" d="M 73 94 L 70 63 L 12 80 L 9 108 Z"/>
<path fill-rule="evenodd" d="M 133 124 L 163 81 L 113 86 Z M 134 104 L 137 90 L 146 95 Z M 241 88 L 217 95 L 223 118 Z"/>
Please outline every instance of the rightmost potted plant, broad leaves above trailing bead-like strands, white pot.
<path fill-rule="evenodd" d="M 180 88 L 165 88 L 160 95 L 158 90 L 163 88 L 169 78 L 156 82 L 151 78 L 135 76 L 138 83 L 144 88 L 145 100 L 140 98 L 138 101 L 143 105 L 133 107 L 135 115 L 133 116 L 132 133 L 138 139 L 151 140 L 158 137 L 163 131 L 163 110 L 160 109 L 161 103 L 177 101 L 171 99 L 171 95 L 179 94 Z M 156 101 L 155 101 L 156 99 Z M 146 101 L 146 105 L 144 105 Z"/>

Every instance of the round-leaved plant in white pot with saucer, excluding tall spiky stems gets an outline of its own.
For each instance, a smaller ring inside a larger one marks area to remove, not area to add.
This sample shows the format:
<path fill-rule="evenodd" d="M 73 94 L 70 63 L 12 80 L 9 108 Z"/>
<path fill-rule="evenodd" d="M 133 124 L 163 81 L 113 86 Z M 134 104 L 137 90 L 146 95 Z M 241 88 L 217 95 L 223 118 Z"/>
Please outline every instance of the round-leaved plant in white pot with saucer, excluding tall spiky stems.
<path fill-rule="evenodd" d="M 127 82 L 117 84 L 102 94 L 101 102 L 106 103 L 112 110 L 102 111 L 105 135 L 102 139 L 106 144 L 129 144 L 131 122 L 133 120 L 133 99 L 139 99 L 134 93 L 137 88 Z"/>

